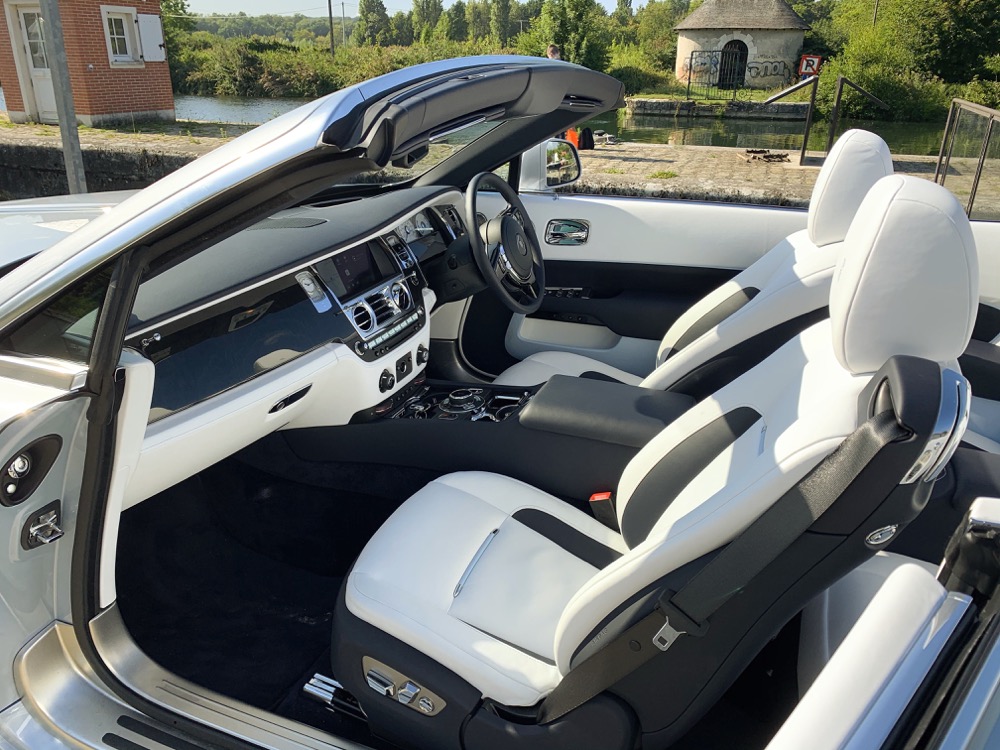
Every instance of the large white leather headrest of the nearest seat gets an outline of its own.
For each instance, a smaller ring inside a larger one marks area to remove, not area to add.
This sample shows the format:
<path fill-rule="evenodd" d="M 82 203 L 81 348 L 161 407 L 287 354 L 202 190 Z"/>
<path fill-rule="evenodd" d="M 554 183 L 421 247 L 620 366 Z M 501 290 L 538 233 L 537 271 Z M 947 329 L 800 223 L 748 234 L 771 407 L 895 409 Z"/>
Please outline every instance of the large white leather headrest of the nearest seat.
<path fill-rule="evenodd" d="M 855 373 L 889 357 L 958 358 L 979 305 L 979 262 L 955 196 L 916 177 L 883 177 L 844 240 L 830 289 L 833 347 Z"/>

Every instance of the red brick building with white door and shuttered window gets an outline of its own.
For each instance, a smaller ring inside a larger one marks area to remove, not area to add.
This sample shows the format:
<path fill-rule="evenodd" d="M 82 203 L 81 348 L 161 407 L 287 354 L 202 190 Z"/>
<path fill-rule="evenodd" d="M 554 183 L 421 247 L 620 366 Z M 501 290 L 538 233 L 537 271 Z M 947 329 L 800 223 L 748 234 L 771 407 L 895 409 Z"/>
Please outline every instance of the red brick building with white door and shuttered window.
<path fill-rule="evenodd" d="M 0 85 L 10 119 L 57 122 L 38 0 L 3 0 L 3 8 Z M 174 119 L 159 0 L 60 0 L 59 8 L 80 123 Z"/>

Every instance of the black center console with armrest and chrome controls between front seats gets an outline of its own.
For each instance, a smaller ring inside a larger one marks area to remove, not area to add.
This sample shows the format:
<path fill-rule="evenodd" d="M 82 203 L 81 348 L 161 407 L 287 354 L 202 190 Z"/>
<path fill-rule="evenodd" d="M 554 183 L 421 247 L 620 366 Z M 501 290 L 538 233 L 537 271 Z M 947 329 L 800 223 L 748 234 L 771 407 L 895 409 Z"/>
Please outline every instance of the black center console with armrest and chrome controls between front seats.
<path fill-rule="evenodd" d="M 681 394 L 588 378 L 515 388 L 421 374 L 349 425 L 282 436 L 305 461 L 495 472 L 585 502 L 616 489 L 642 446 L 693 404 Z"/>

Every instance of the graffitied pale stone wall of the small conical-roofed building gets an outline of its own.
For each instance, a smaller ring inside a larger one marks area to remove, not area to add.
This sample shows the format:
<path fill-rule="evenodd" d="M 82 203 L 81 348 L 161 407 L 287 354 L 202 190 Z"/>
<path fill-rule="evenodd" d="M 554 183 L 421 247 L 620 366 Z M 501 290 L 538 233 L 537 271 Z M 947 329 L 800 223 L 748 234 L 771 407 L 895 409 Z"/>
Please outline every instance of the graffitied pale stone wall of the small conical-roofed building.
<path fill-rule="evenodd" d="M 691 53 L 699 50 L 721 50 L 727 42 L 739 40 L 746 44 L 746 84 L 750 88 L 769 89 L 791 82 L 798 70 L 804 31 L 795 29 L 697 29 L 682 31 L 677 38 L 678 80 L 686 82 Z M 715 83 L 715 81 L 712 81 Z"/>

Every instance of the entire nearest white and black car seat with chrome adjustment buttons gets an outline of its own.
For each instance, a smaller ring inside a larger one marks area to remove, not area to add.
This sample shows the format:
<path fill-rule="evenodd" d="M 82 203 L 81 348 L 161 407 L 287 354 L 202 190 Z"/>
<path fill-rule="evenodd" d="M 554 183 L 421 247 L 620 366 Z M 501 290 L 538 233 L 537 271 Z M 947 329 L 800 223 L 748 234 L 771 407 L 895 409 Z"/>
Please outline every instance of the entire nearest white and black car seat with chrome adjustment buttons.
<path fill-rule="evenodd" d="M 632 750 L 640 735 L 644 748 L 667 747 L 927 501 L 964 429 L 956 359 L 978 296 L 975 244 L 951 193 L 881 180 L 848 232 L 830 319 L 640 450 L 615 488 L 617 529 L 484 472 L 446 475 L 405 501 L 344 581 L 336 679 L 372 731 L 403 747 Z M 887 429 L 899 434 L 872 447 Z M 751 549 L 766 558 L 737 569 L 757 573 L 726 579 L 738 595 L 686 613 L 700 630 L 662 651 L 632 637 L 658 601 L 762 530 L 772 542 Z M 554 712 L 588 665 L 642 649 L 649 661 Z"/>

